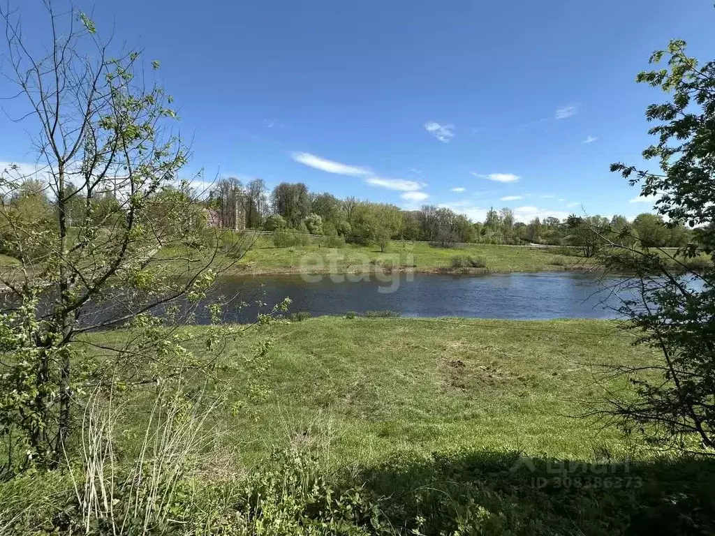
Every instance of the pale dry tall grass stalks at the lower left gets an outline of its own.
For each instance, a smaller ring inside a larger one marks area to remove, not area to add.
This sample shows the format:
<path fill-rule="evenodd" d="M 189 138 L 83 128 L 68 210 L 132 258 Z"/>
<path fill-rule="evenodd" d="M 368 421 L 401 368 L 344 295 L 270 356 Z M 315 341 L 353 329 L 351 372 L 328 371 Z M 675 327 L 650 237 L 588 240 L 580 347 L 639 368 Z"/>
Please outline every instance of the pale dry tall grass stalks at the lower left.
<path fill-rule="evenodd" d="M 84 529 L 102 520 L 114 535 L 139 528 L 145 534 L 154 525 L 172 521 L 169 505 L 179 480 L 190 481 L 207 459 L 215 463 L 221 432 L 207 430 L 206 423 L 220 402 L 221 397 L 209 397 L 206 389 L 192 399 L 180 388 L 160 389 L 139 455 L 129 463 L 115 449 L 117 423 L 129 405 L 95 392 L 82 422 L 80 469 L 71 470 Z"/>

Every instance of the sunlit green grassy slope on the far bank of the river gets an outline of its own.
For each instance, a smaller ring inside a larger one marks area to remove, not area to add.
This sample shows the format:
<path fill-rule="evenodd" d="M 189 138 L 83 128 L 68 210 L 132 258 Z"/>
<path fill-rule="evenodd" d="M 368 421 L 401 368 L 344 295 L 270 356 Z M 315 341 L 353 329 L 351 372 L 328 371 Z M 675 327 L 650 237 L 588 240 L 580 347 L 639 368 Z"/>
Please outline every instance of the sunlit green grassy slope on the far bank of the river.
<path fill-rule="evenodd" d="M 583 264 L 578 257 L 564 257 L 548 250 L 526 247 L 474 244 L 445 249 L 420 242 L 407 242 L 404 246 L 401 242 L 391 242 L 383 253 L 376 246 L 352 244 L 332 250 L 317 245 L 277 248 L 270 239 L 260 237 L 237 269 L 261 274 L 322 272 L 330 270 L 330 259 L 335 255 L 339 272 L 368 270 L 373 261 L 400 267 L 415 266 L 418 272 L 435 272 L 449 267 L 450 259 L 455 255 L 480 257 L 494 272 L 538 272 Z"/>

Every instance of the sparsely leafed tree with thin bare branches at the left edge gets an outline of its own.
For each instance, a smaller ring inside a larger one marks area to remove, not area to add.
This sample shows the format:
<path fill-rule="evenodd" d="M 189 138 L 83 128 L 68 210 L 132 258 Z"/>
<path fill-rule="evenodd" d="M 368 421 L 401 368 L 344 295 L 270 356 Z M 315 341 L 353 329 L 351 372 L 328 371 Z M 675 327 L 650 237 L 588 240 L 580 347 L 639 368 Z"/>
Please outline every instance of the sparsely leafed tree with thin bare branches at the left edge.
<path fill-rule="evenodd" d="M 0 174 L 1 247 L 17 259 L 0 274 L 8 465 L 14 452 L 21 465 L 56 464 L 88 385 L 156 384 L 215 367 L 187 349 L 191 337 L 165 327 L 186 322 L 250 245 L 209 227 L 208 200 L 180 179 L 189 149 L 142 54 L 117 51 L 83 13 L 41 4 L 51 36 L 41 56 L 24 39 L 19 11 L 0 8 L 4 74 L 28 106 L 16 119 L 37 132 L 36 167 Z M 218 304 L 210 314 L 220 321 Z M 93 343 L 92 332 L 119 325 L 132 328 L 124 342 Z"/>

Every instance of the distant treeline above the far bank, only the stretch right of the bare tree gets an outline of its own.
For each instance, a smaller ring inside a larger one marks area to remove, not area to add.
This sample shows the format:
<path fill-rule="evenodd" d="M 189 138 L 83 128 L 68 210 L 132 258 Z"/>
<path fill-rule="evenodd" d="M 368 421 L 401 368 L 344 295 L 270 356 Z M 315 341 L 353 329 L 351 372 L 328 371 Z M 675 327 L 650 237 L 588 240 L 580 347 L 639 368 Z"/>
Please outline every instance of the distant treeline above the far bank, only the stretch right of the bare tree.
<path fill-rule="evenodd" d="M 297 229 L 311 234 L 345 237 L 349 242 L 382 242 L 385 239 L 423 240 L 448 246 L 456 242 L 483 244 L 583 245 L 583 231 L 568 220 L 555 217 L 516 222 L 511 209 L 490 209 L 483 222 L 472 222 L 464 214 L 446 207 L 425 205 L 405 211 L 393 204 L 338 199 L 327 192 L 310 192 L 302 182 L 282 182 L 270 192 L 261 179 L 243 187 L 237 179 L 222 179 L 212 190 L 217 206 L 227 207 L 225 219 L 234 214 L 230 202 L 242 192 L 246 227 L 250 229 Z M 581 218 L 579 223 L 610 229 L 622 236 L 631 234 L 651 247 L 682 247 L 696 237 L 683 224 L 665 224 L 660 216 L 639 214 L 629 221 L 623 216 Z"/>

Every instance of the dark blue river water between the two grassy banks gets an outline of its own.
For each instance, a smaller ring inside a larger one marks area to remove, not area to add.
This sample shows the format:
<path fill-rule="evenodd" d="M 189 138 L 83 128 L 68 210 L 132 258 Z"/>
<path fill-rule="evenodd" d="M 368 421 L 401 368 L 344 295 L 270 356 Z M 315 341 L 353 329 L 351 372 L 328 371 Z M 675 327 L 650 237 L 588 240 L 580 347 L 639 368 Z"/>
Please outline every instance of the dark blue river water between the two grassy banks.
<path fill-rule="evenodd" d="M 225 279 L 215 292 L 227 297 L 238 294 L 239 301 L 248 303 L 275 304 L 290 297 L 290 312 L 308 311 L 314 316 L 390 309 L 404 317 L 607 319 L 617 316 L 620 302 L 610 290 L 619 279 L 573 272 L 477 277 L 382 274 L 382 280 L 370 274 L 352 276 L 352 281 L 347 277 L 241 277 Z M 226 319 L 255 319 L 257 311 L 253 305 L 229 307 Z"/>

